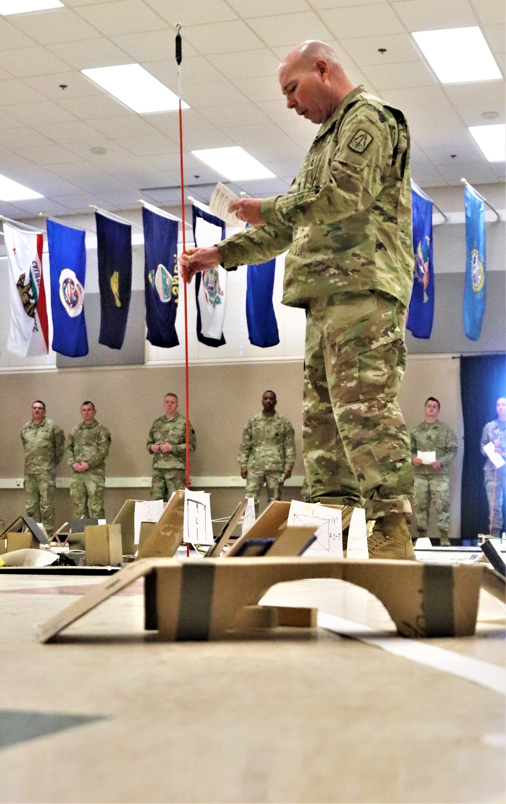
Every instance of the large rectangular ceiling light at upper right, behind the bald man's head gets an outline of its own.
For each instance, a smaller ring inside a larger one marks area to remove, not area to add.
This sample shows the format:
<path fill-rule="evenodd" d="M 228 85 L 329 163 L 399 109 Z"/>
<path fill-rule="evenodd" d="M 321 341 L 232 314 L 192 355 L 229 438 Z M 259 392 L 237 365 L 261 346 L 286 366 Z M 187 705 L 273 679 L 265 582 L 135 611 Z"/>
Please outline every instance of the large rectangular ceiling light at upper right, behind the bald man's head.
<path fill-rule="evenodd" d="M 442 84 L 503 77 L 479 27 L 415 31 L 412 36 Z"/>

